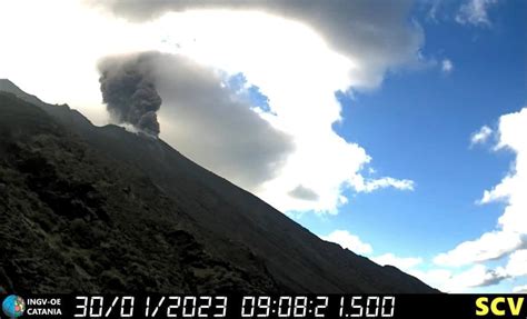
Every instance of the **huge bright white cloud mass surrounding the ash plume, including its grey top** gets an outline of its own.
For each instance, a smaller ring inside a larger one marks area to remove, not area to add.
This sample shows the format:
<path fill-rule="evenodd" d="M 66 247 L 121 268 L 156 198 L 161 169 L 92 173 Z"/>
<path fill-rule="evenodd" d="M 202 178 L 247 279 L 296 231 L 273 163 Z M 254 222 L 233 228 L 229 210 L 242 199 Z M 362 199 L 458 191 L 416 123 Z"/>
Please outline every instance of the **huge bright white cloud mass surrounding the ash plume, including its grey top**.
<path fill-rule="evenodd" d="M 132 2 L 137 7 L 130 7 Z M 271 111 L 259 117 L 290 136 L 295 149 L 277 167 L 277 176 L 261 176 L 255 185 L 253 178 L 240 176 L 248 170 L 236 170 L 237 161 L 227 167 L 229 154 L 225 152 L 231 148 L 219 148 L 212 157 L 203 151 L 210 146 L 207 140 L 175 143 L 180 139 L 173 133 L 181 129 L 170 122 L 177 114 L 172 117 L 161 106 L 160 137 L 198 163 L 282 211 L 336 212 L 347 202 L 345 190 L 412 188 L 411 181 L 394 178 L 364 181 L 361 170 L 371 158 L 331 128 L 341 120 L 335 91 L 374 88 L 386 70 L 417 59 L 424 37 L 417 26 L 407 22 L 409 1 L 397 1 L 389 8 L 375 1 L 316 1 L 314 6 L 302 6 L 301 0 L 247 1 L 248 7 L 240 10 L 183 10 L 187 7 L 178 7 L 181 1 L 132 2 L 105 3 L 116 12 L 128 10 L 128 14 L 156 18 L 128 22 L 71 0 L 34 1 L 31 10 L 23 1 L 2 2 L 0 29 L 10 30 L 2 33 L 2 41 L 6 48 L 17 49 L 0 51 L 0 60 L 9 61 L 0 64 L 1 77 L 46 101 L 67 101 L 102 124 L 107 114 L 96 71 L 100 58 L 149 50 L 189 57 L 203 68 L 229 74 L 243 72 L 248 82 L 269 98 Z M 232 3 L 225 1 L 222 6 L 232 9 Z M 160 94 L 172 100 L 168 89 Z M 207 94 L 195 99 L 203 104 Z M 249 129 L 241 136 L 255 133 Z M 309 198 L 314 200 L 291 193 L 298 186 L 311 190 Z"/>

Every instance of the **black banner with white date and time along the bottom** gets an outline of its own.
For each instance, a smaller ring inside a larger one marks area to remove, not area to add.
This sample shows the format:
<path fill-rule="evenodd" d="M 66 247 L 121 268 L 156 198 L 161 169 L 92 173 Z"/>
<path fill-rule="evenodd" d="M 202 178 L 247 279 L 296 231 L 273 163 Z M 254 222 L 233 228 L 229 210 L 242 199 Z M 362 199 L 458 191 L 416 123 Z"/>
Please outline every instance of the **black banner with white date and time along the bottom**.
<path fill-rule="evenodd" d="M 1 318 L 527 318 L 526 295 L 0 295 Z"/>

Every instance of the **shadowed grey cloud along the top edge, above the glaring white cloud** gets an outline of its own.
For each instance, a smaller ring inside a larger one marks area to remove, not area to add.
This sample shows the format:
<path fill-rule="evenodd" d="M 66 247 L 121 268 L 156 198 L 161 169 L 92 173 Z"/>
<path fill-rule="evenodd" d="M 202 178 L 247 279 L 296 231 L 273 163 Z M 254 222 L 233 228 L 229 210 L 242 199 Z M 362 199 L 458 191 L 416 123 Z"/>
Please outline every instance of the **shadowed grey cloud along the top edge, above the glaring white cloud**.
<path fill-rule="evenodd" d="M 271 16 L 295 20 L 301 24 L 312 28 L 329 44 L 331 50 L 349 57 L 354 61 L 351 76 L 358 86 L 377 86 L 384 77 L 384 72 L 390 66 L 401 62 L 416 61 L 416 52 L 422 43 L 422 31 L 418 26 L 408 24 L 407 14 L 412 2 L 408 0 L 397 1 L 386 6 L 384 1 L 310 1 L 306 6 L 304 0 L 201 0 L 201 1 L 127 1 L 84 0 L 96 7 L 107 10 L 128 19 L 145 21 L 158 19 L 167 12 L 188 12 L 191 10 L 238 10 L 238 11 L 262 11 Z M 218 4 L 220 3 L 220 4 Z M 245 21 L 243 27 L 237 28 L 238 32 L 245 33 L 245 27 L 250 26 L 250 19 Z M 227 21 L 228 22 L 228 21 Z M 229 22 L 228 22 L 229 23 Z M 215 21 L 209 21 L 200 28 L 215 28 Z M 276 28 L 284 29 L 286 24 L 278 23 Z M 237 33 L 235 33 L 237 34 Z M 242 41 L 250 38 L 265 38 L 259 34 L 252 37 L 240 37 Z M 279 36 L 274 33 L 272 37 Z M 290 41 L 295 39 L 295 41 Z M 222 41 L 221 38 L 218 39 Z M 296 44 L 298 38 L 287 41 Z M 282 48 L 272 47 L 281 51 Z M 268 50 L 266 50 L 268 51 Z M 315 61 L 314 61 L 315 63 Z M 311 64 L 312 66 L 312 64 Z"/>

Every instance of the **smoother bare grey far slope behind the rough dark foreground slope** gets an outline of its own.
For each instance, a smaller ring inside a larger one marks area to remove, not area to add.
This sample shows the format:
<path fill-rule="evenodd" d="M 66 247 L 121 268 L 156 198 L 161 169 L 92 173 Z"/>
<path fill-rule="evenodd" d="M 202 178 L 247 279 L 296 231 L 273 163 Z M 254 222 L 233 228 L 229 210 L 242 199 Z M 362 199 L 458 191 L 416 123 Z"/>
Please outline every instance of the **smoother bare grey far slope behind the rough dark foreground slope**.
<path fill-rule="evenodd" d="M 0 90 L 8 87 L 1 82 Z M 11 93 L 26 101 L 32 97 L 28 94 L 24 99 L 27 93 L 21 90 Z M 147 178 L 159 196 L 166 197 L 189 220 L 189 233 L 210 258 L 228 262 L 232 273 L 238 273 L 232 269 L 239 269 L 239 273 L 259 278 L 264 291 L 437 292 L 394 267 L 378 266 L 336 243 L 320 240 L 162 140 L 111 124 L 95 127 L 67 106 L 40 101 L 37 107 L 64 127 L 76 141 Z M 247 281 L 247 287 L 253 287 L 250 282 Z"/>

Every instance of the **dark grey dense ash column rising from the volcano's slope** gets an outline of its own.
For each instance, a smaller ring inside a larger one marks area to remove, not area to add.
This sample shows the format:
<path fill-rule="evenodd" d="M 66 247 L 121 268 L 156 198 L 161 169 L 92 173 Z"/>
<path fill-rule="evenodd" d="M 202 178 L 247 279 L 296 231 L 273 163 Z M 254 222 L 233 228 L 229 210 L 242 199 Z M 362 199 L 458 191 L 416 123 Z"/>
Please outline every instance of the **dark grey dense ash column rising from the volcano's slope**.
<path fill-rule="evenodd" d="M 102 101 L 117 122 L 157 137 L 160 128 L 156 112 L 161 97 L 151 74 L 151 57 L 153 53 L 105 60 L 99 63 L 99 81 Z"/>

